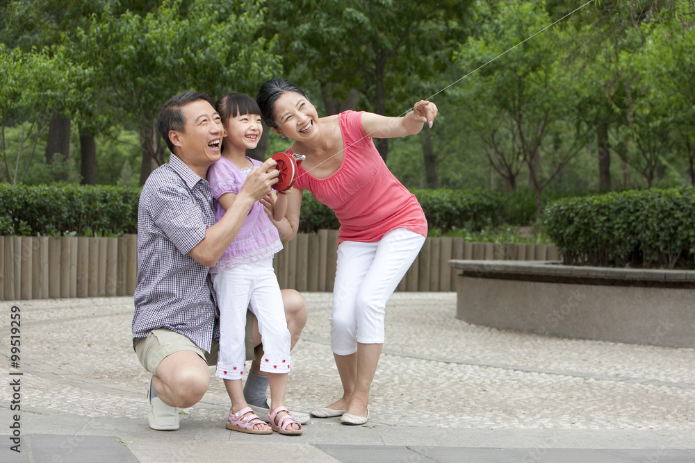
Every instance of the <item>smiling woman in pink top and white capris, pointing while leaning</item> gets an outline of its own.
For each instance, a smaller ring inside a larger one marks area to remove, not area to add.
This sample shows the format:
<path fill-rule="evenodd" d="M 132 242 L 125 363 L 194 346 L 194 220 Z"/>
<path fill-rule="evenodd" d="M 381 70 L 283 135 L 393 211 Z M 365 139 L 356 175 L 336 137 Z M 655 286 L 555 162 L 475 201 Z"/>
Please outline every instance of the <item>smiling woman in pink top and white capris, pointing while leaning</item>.
<path fill-rule="evenodd" d="M 332 208 L 338 232 L 338 266 L 331 314 L 331 346 L 343 397 L 312 416 L 341 416 L 349 425 L 369 418 L 369 389 L 384 344 L 384 309 L 427 236 L 416 197 L 391 174 L 372 137 L 419 133 L 437 114 L 418 101 L 403 117 L 345 111 L 318 117 L 296 85 L 264 83 L 256 97 L 266 124 L 294 143 L 288 154 L 304 155 L 288 194 L 286 217 L 297 232 L 302 190 Z"/>

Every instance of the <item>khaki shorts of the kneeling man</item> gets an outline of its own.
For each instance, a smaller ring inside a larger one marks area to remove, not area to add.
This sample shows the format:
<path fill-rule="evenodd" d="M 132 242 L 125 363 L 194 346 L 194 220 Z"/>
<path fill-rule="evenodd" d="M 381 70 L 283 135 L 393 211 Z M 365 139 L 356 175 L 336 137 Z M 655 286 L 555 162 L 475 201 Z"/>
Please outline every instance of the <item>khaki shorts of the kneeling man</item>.
<path fill-rule="evenodd" d="M 250 310 L 246 312 L 246 360 L 254 360 L 253 346 L 254 314 Z M 166 328 L 159 328 L 149 332 L 147 337 L 136 338 L 134 342 L 138 360 L 143 367 L 153 375 L 156 375 L 157 367 L 167 355 L 180 351 L 193 351 L 207 362 L 208 365 L 217 364 L 220 343 L 213 339 L 210 353 L 199 348 L 195 342 L 184 335 Z"/>

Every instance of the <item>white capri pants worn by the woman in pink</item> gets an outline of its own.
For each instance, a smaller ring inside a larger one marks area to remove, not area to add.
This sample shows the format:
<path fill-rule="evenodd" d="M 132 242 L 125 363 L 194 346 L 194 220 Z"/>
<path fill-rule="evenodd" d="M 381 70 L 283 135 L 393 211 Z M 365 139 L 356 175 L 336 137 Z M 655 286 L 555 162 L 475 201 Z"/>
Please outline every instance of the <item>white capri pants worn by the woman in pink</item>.
<path fill-rule="evenodd" d="M 337 355 L 357 352 L 357 343 L 384 343 L 386 301 L 410 268 L 425 237 L 398 228 L 377 242 L 344 241 L 331 313 L 331 348 Z"/>

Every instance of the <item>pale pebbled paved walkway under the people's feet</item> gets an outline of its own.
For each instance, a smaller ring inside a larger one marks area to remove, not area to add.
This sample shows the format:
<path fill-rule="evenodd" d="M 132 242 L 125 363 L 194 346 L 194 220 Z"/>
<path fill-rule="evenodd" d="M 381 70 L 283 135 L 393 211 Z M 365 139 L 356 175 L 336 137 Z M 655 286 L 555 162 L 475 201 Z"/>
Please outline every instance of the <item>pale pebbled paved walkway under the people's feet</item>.
<path fill-rule="evenodd" d="M 340 385 L 331 296 L 304 296 L 310 314 L 293 351 L 291 410 L 331 403 Z M 10 359 L 12 305 L 21 314 L 19 368 Z M 695 350 L 482 328 L 455 319 L 455 305 L 453 293 L 394 294 L 370 421 L 312 419 L 304 435 L 288 437 L 225 430 L 229 399 L 216 378 L 184 410 L 180 430 L 150 430 L 132 298 L 2 301 L 0 462 L 220 462 L 249 453 L 265 462 L 695 462 Z M 10 449 L 12 426 L 21 453 Z"/>

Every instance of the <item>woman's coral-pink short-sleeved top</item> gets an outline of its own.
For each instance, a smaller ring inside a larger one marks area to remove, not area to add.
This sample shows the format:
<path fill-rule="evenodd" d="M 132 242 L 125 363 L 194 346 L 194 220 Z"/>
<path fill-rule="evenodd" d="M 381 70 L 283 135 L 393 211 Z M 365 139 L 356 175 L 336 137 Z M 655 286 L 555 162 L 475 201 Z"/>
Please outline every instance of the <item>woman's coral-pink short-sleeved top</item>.
<path fill-rule="evenodd" d="M 293 186 L 309 190 L 336 213 L 341 224 L 338 244 L 379 241 L 396 228 L 427 236 L 423 208 L 391 174 L 372 138 L 366 136 L 362 112 L 341 112 L 338 121 L 345 145 L 341 167 L 327 178 L 316 178 L 300 165 Z"/>

